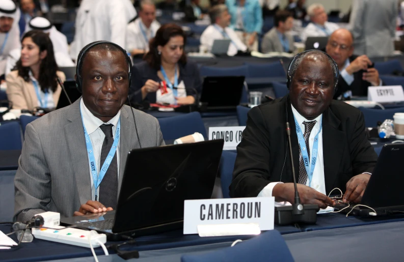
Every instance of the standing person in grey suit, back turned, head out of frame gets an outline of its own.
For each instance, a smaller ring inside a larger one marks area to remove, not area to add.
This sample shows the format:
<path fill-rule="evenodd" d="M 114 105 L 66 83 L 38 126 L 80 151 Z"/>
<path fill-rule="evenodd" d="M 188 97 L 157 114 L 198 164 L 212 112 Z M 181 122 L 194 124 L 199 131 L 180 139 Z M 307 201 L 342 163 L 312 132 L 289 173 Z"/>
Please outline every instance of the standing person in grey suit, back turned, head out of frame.
<path fill-rule="evenodd" d="M 349 26 L 356 55 L 369 57 L 394 52 L 397 0 L 354 0 Z"/>

